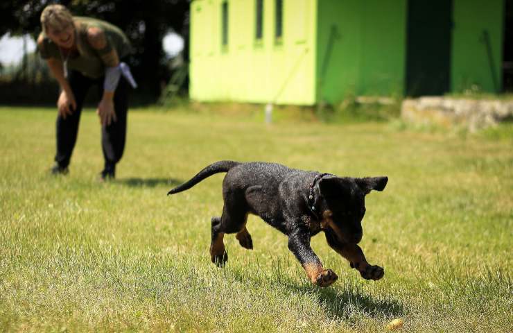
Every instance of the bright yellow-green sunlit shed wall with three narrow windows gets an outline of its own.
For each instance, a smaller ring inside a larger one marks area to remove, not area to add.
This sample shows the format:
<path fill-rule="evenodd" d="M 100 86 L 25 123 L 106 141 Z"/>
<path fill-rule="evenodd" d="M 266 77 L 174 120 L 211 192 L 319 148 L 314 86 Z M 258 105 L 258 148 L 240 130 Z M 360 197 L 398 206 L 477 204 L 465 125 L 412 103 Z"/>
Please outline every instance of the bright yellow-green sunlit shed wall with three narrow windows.
<path fill-rule="evenodd" d="M 191 99 L 313 105 L 317 0 L 284 0 L 281 43 L 274 0 L 264 0 L 259 42 L 255 1 L 227 1 L 227 47 L 221 46 L 222 3 L 191 3 Z"/>

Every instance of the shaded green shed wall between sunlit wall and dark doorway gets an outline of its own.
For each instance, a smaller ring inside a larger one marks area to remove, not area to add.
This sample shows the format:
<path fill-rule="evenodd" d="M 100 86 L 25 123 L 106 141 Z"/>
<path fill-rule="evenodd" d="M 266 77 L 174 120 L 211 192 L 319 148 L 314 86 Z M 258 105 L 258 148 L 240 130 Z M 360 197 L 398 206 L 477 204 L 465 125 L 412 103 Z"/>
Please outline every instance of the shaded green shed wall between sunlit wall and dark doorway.
<path fill-rule="evenodd" d="M 406 0 L 319 0 L 318 100 L 402 94 L 405 26 Z"/>

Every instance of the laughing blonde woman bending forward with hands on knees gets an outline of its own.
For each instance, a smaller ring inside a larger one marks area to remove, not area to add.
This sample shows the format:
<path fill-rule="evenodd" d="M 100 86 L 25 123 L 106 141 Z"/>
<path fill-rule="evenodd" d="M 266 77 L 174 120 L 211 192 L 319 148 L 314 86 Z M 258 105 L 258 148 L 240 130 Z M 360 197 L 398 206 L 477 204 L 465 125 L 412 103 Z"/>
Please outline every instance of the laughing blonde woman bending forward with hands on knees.
<path fill-rule="evenodd" d="M 100 176 L 102 180 L 114 178 L 116 163 L 125 148 L 128 83 L 136 87 L 123 62 L 130 54 L 130 42 L 116 26 L 90 17 L 73 17 L 62 5 L 46 6 L 41 24 L 37 46 L 61 88 L 57 101 L 57 152 L 51 173 L 68 173 L 82 104 L 89 89 L 96 86 L 101 96 L 96 113 L 102 126 L 105 159 Z"/>

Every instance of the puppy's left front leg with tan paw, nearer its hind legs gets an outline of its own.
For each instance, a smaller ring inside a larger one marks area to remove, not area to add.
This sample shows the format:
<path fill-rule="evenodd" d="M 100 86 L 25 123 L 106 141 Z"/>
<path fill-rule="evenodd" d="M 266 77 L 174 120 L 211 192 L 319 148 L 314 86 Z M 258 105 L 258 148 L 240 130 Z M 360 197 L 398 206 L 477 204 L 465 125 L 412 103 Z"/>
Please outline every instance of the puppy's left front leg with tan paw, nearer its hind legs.
<path fill-rule="evenodd" d="M 306 275 L 313 284 L 328 287 L 338 279 L 331 269 L 324 269 L 320 259 L 310 247 L 310 235 L 307 232 L 295 232 L 288 237 L 288 249 L 301 262 Z"/>

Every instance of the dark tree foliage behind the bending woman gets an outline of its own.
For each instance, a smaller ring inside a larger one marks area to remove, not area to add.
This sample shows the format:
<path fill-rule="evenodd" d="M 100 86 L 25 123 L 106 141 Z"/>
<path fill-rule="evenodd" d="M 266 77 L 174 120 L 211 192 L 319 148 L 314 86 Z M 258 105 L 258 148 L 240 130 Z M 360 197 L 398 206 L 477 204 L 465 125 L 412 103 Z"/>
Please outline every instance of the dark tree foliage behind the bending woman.
<path fill-rule="evenodd" d="M 162 39 L 175 31 L 189 35 L 189 0 L 12 0 L 0 1 L 0 36 L 5 33 L 41 31 L 40 15 L 50 3 L 62 3 L 73 15 L 96 17 L 119 26 L 132 42 L 134 54 L 128 60 L 141 90 L 154 97 L 168 77 Z"/>

